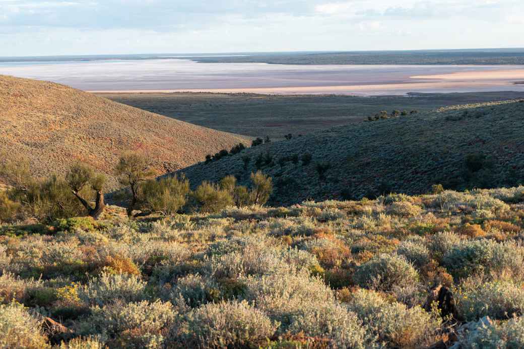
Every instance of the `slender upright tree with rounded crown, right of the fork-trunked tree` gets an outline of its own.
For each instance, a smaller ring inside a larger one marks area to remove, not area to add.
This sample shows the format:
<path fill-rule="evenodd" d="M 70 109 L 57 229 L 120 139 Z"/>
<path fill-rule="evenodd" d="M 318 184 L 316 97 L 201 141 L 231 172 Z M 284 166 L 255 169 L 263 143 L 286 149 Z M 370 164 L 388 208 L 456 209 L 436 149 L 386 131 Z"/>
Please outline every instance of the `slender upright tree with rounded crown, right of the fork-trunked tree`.
<path fill-rule="evenodd" d="M 141 183 L 155 176 L 151 163 L 144 154 L 128 151 L 122 154 L 116 166 L 118 182 L 129 187 L 131 198 L 127 206 L 127 215 L 131 216 L 138 203 Z"/>

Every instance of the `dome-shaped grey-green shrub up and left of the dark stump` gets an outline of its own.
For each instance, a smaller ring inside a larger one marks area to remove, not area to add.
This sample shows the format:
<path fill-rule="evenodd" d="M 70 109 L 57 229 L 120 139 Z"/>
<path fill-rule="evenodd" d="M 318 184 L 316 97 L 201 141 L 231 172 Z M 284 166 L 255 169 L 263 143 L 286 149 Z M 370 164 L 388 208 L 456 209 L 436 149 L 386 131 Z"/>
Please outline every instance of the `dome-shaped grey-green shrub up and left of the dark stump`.
<path fill-rule="evenodd" d="M 381 254 L 359 266 L 353 278 L 361 287 L 389 291 L 417 282 L 419 275 L 406 257 Z"/>

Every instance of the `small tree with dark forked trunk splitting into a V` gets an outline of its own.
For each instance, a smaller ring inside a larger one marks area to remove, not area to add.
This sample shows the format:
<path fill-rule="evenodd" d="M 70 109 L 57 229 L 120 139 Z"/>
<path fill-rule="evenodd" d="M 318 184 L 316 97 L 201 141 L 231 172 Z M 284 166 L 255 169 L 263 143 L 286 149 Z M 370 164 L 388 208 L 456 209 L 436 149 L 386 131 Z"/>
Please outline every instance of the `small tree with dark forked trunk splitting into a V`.
<path fill-rule="evenodd" d="M 100 173 L 95 173 L 91 167 L 78 162 L 69 169 L 67 174 L 65 174 L 65 182 L 67 182 L 68 186 L 71 188 L 75 198 L 77 198 L 82 206 L 84 206 L 85 210 L 88 211 L 88 214 L 93 217 L 93 219 L 98 219 L 102 212 L 104 212 L 105 208 L 105 176 Z M 85 192 L 85 190 L 89 191 L 86 187 L 89 187 L 96 195 L 94 207 L 92 207 L 88 202 L 89 199 L 84 198 L 83 192 Z"/>

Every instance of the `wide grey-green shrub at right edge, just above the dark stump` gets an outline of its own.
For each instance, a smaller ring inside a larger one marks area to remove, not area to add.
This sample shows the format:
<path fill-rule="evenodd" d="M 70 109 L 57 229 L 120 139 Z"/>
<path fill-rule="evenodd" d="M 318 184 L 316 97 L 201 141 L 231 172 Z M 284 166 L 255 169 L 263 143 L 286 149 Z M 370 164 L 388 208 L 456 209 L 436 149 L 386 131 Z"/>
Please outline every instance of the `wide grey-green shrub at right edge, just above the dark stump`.
<path fill-rule="evenodd" d="M 524 266 L 522 247 L 481 239 L 465 241 L 444 254 L 442 263 L 455 277 L 509 272 L 519 276 Z"/>

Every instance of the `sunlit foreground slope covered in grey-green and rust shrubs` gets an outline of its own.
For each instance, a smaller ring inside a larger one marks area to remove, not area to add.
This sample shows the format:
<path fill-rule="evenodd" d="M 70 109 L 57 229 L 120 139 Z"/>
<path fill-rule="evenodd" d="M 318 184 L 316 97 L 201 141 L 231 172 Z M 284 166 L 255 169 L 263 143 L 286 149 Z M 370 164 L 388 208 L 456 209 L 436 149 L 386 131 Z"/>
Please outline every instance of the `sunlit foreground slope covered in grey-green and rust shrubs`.
<path fill-rule="evenodd" d="M 519 187 L 2 226 L 0 346 L 522 347 L 523 202 Z"/>

